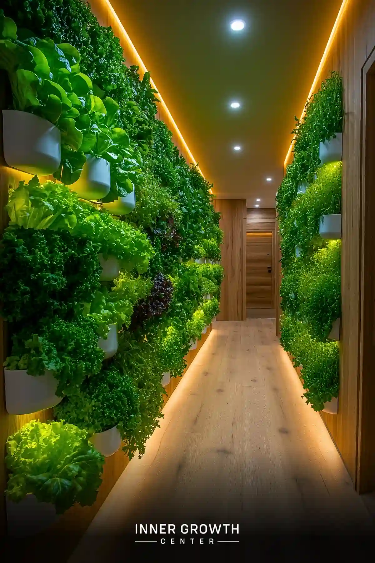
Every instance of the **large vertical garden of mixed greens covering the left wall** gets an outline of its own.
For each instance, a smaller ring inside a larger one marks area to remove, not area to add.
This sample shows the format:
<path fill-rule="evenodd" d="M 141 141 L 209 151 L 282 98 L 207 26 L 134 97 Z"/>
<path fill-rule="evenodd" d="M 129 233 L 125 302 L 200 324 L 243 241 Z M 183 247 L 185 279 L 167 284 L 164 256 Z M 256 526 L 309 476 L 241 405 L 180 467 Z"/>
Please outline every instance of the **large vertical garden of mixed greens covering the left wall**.
<path fill-rule="evenodd" d="M 0 69 L 4 159 L 33 175 L 1 244 L 6 408 L 54 408 L 8 439 L 7 497 L 61 513 L 94 502 L 121 442 L 144 452 L 162 379 L 219 310 L 220 214 L 155 118 L 149 75 L 84 2 L 6 0 Z"/>

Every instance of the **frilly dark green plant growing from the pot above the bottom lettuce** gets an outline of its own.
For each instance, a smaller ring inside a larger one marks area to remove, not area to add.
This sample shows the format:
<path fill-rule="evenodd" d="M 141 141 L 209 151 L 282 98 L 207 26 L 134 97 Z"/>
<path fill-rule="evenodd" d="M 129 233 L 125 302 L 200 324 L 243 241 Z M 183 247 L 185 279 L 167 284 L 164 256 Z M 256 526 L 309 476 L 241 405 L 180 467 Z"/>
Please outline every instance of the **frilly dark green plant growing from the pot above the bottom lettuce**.
<path fill-rule="evenodd" d="M 51 370 L 58 381 L 59 397 L 74 394 L 86 377 L 101 369 L 103 351 L 98 348 L 97 324 L 87 316 L 70 322 L 56 318 L 39 334 L 30 334 L 30 328 L 25 327 L 13 334 L 12 340 L 11 356 L 4 366 L 26 369 L 30 376 Z"/>

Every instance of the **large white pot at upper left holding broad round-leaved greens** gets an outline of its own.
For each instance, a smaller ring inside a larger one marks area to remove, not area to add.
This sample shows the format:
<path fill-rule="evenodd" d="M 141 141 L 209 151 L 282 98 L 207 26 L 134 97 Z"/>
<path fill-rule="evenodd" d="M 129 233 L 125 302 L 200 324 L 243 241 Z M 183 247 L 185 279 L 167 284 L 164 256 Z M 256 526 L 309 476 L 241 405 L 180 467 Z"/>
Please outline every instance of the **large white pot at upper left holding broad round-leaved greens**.
<path fill-rule="evenodd" d="M 60 166 L 60 131 L 27 111 L 3 109 L 4 159 L 22 172 L 49 176 Z"/>

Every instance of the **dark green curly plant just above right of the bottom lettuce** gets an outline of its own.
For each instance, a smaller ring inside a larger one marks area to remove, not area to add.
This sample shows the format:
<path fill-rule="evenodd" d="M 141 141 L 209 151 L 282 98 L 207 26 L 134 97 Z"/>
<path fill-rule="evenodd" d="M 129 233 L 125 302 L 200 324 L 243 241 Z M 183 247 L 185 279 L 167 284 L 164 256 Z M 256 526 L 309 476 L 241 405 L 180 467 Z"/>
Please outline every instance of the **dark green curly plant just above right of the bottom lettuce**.
<path fill-rule="evenodd" d="M 88 436 L 117 426 L 126 439 L 139 417 L 138 392 L 132 379 L 112 365 L 86 379 L 80 392 L 64 397 L 53 412 L 58 420 L 87 430 Z"/>

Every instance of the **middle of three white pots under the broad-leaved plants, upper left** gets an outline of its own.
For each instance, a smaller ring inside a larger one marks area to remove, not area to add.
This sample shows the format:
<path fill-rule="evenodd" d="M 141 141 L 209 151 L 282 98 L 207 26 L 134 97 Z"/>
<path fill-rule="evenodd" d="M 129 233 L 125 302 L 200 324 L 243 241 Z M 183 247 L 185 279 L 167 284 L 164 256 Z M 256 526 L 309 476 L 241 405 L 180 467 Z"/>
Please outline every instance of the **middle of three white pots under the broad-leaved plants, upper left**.
<path fill-rule="evenodd" d="M 96 158 L 92 154 L 87 154 L 79 180 L 70 184 L 69 187 L 83 199 L 104 198 L 111 189 L 110 163 L 104 158 Z"/>

